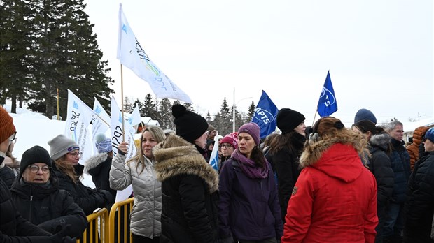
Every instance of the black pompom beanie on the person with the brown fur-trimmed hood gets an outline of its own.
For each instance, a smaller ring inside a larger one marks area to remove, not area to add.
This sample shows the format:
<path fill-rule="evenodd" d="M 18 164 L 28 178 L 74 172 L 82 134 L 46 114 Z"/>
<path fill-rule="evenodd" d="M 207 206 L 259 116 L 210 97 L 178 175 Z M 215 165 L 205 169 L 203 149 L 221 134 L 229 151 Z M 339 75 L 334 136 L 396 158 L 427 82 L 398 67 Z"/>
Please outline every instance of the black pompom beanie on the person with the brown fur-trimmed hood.
<path fill-rule="evenodd" d="M 176 126 L 176 135 L 194 143 L 194 141 L 208 130 L 207 120 L 195 112 L 190 112 L 183 105 L 173 105 L 172 115 L 174 115 L 174 124 Z"/>

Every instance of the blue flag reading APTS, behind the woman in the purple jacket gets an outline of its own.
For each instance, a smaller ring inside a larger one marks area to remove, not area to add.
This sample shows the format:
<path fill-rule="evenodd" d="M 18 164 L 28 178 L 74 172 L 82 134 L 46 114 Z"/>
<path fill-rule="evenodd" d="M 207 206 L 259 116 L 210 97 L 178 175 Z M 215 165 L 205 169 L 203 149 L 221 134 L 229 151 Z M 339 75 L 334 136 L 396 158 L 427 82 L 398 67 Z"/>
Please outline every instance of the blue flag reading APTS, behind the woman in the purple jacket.
<path fill-rule="evenodd" d="M 258 105 L 255 108 L 255 114 L 251 122 L 258 124 L 260 127 L 260 138 L 265 138 L 276 130 L 276 116 L 279 109 L 274 105 L 267 93 L 262 90 Z"/>

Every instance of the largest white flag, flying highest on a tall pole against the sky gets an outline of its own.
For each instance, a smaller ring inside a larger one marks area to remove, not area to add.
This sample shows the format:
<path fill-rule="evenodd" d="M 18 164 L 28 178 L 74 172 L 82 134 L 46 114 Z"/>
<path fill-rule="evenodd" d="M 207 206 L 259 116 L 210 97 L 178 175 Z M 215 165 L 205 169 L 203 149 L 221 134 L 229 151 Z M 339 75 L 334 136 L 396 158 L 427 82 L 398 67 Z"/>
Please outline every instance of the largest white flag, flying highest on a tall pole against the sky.
<path fill-rule="evenodd" d="M 172 82 L 148 57 L 134 35 L 119 4 L 118 56 L 120 64 L 130 68 L 148 82 L 157 98 L 174 98 L 193 103 L 190 97 Z"/>

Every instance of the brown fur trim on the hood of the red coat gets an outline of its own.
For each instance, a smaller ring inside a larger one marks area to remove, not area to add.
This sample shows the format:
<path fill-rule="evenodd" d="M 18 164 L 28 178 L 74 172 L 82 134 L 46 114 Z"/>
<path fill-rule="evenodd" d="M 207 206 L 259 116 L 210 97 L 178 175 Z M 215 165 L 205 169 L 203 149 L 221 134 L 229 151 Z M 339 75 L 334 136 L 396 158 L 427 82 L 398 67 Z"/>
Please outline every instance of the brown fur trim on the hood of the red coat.
<path fill-rule="evenodd" d="M 307 146 L 304 146 L 302 155 L 300 156 L 300 167 L 305 168 L 314 165 L 314 163 L 321 159 L 321 156 L 328 148 L 337 143 L 351 145 L 360 156 L 370 155 L 367 150 L 366 136 L 345 129 L 333 137 L 323 135 L 323 137 L 319 137 L 318 140 L 309 140 Z"/>

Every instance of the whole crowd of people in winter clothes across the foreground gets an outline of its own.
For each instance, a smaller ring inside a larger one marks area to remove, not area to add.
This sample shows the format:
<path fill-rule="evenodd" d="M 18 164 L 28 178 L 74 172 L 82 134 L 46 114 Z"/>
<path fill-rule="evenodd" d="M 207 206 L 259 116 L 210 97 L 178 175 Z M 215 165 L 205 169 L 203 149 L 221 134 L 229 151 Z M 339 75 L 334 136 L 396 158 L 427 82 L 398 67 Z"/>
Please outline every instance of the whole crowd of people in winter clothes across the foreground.
<path fill-rule="evenodd" d="M 98 135 L 98 154 L 81 165 L 64 135 L 18 161 L 13 118 L 0 107 L 0 242 L 76 242 L 86 216 L 128 186 L 133 242 L 434 242 L 434 127 L 416 128 L 406 147 L 401 122 L 377 126 L 367 109 L 346 128 L 335 117 L 307 127 L 283 108 L 280 132 L 266 138 L 255 123 L 218 135 L 180 104 L 172 115 L 176 131 L 144 126 L 116 156 Z"/>

